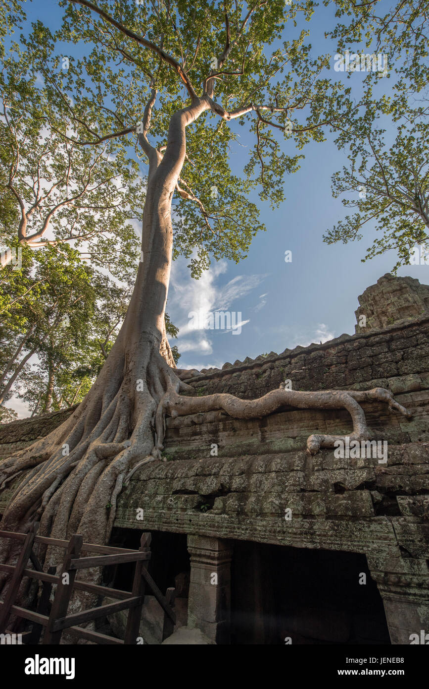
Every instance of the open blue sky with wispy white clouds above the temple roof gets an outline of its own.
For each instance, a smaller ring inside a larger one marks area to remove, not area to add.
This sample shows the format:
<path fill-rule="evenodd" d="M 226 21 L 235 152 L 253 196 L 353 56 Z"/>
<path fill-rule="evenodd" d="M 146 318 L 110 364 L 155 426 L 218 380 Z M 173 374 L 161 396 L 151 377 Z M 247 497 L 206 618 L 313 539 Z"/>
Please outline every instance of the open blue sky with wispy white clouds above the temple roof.
<path fill-rule="evenodd" d="M 30 19 L 37 17 L 52 29 L 61 13 L 54 0 L 28 6 Z M 324 32 L 333 28 L 334 22 L 331 5 L 319 8 L 307 25 L 314 54 L 329 52 L 332 65 L 336 46 L 325 40 Z M 336 78 L 340 73 L 331 72 L 331 76 Z M 357 93 L 360 81 L 360 74 L 349 79 Z M 239 130 L 243 132 L 242 127 Z M 294 154 L 292 138 L 284 145 Z M 227 260 L 212 264 L 198 281 L 190 278 L 188 260 L 180 258 L 173 264 L 167 311 L 179 327 L 179 338 L 173 343 L 182 354 L 180 367 L 221 367 L 224 362 L 246 356 L 280 353 L 287 347 L 353 333 L 358 295 L 395 265 L 394 251 L 361 263 L 375 236 L 374 226 L 366 229 L 360 242 L 323 243 L 322 234 L 346 214 L 341 199 L 332 198 L 331 175 L 347 163 L 347 157 L 330 137 L 325 143 L 310 143 L 304 154 L 300 170 L 286 178 L 286 200 L 281 207 L 272 211 L 267 203 L 257 200 L 267 232 L 254 238 L 248 258 L 239 265 Z M 241 147 L 232 156 L 234 168 L 247 161 Z M 287 250 L 292 251 L 291 263 L 285 262 Z M 398 275 L 428 283 L 429 266 L 404 267 Z M 243 321 L 241 333 L 191 330 L 188 313 L 199 308 L 241 313 L 241 318 L 237 316 Z"/>

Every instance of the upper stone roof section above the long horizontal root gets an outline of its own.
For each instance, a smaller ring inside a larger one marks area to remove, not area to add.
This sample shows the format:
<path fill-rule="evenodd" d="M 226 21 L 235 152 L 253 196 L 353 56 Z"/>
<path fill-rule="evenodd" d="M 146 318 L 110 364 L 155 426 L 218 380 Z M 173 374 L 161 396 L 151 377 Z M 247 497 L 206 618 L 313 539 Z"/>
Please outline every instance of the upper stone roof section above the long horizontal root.
<path fill-rule="evenodd" d="M 265 395 L 289 379 L 294 390 L 388 387 L 394 393 L 428 387 L 429 313 L 403 325 L 341 335 L 323 345 L 285 349 L 201 371 L 189 382 L 198 395 L 228 392 L 243 399 Z M 397 379 L 404 380 L 400 382 Z M 192 394 L 192 393 L 190 393 Z"/>

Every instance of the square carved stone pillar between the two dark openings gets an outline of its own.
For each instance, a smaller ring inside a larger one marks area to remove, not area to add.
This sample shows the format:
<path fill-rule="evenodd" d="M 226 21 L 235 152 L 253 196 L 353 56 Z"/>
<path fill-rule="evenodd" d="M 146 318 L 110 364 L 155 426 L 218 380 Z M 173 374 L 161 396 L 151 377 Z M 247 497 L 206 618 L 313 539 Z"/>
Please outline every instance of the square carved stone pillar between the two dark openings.
<path fill-rule="evenodd" d="M 188 551 L 188 627 L 201 629 L 216 644 L 229 644 L 232 543 L 188 535 Z"/>

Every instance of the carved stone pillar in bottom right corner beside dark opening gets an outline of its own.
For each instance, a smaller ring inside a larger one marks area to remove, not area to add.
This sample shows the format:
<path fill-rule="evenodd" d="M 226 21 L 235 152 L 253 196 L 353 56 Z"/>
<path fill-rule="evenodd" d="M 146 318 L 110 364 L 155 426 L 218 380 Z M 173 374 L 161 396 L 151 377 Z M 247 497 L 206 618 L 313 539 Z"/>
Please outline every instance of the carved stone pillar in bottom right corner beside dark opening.
<path fill-rule="evenodd" d="M 371 557 L 367 559 L 371 577 L 377 582 L 383 599 L 392 644 L 409 645 L 412 641 L 429 644 L 429 572 L 426 560 L 398 558 L 398 566 L 391 567 L 396 571 L 380 571 L 371 567 Z"/>

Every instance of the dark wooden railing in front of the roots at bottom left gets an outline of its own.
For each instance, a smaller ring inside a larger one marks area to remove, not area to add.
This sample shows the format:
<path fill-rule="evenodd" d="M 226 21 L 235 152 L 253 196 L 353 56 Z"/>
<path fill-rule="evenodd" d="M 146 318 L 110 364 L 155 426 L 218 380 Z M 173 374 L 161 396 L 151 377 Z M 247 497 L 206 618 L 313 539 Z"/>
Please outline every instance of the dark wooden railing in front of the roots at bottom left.
<path fill-rule="evenodd" d="M 92 543 L 83 543 L 83 537 L 80 535 L 72 536 L 69 541 L 38 536 L 38 528 L 39 524 L 34 524 L 33 530 L 27 534 L 0 531 L 1 538 L 21 541 L 23 544 L 16 565 L 0 564 L 0 571 L 12 575 L 5 585 L 4 600 L 0 601 L 0 633 L 6 632 L 8 619 L 10 619 L 11 615 L 14 615 L 34 623 L 30 633 L 25 635 L 25 643 L 27 644 L 39 644 L 43 628 L 45 628 L 43 644 L 59 644 L 61 635 L 65 629 L 67 629 L 69 633 L 72 633 L 72 635 L 76 635 L 76 637 L 94 641 L 96 644 L 137 644 L 146 585 L 151 589 L 153 595 L 164 610 L 162 639 L 166 639 L 166 637 L 173 633 L 176 621 L 173 611 L 175 589 L 168 588 L 166 596 L 162 595 L 147 571 L 148 561 L 151 558 L 150 533 L 142 534 L 139 550 L 133 551 L 125 548 L 113 548 L 111 546 L 98 546 Z M 66 553 L 59 575 L 54 574 L 56 570 L 55 567 L 50 567 L 47 573 L 43 571 L 39 559 L 33 553 L 33 546 L 36 543 L 65 548 Z M 100 555 L 81 557 L 80 551 L 100 553 Z M 29 560 L 32 562 L 34 569 L 28 568 Z M 76 579 L 76 575 L 80 569 L 104 567 L 111 564 L 123 564 L 124 562 L 135 562 L 133 588 L 131 591 L 108 588 L 107 586 L 98 586 L 98 584 L 91 584 L 90 582 L 83 582 Z M 23 577 L 30 577 L 31 579 L 37 579 L 43 582 L 43 588 L 36 611 L 27 610 L 26 608 L 15 605 Z M 56 592 L 48 615 L 49 601 L 52 586 L 54 586 L 54 584 L 56 585 Z M 109 596 L 110 598 L 118 599 L 118 602 L 103 604 L 96 608 L 90 608 L 89 610 L 67 615 L 69 601 L 74 591 L 87 591 L 88 593 Z M 117 613 L 119 610 L 129 610 L 123 640 L 80 626 L 81 624 L 86 624 L 100 617 Z"/>

